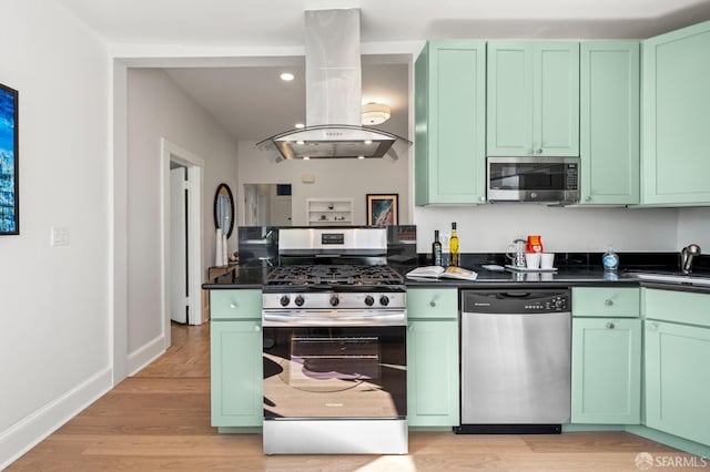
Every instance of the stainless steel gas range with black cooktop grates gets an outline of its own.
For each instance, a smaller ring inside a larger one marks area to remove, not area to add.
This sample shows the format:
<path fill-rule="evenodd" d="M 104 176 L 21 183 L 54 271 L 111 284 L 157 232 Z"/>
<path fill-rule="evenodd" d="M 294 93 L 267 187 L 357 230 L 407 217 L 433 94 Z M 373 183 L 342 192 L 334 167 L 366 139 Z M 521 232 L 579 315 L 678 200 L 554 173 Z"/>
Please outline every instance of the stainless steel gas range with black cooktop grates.
<path fill-rule="evenodd" d="M 263 294 L 264 453 L 408 451 L 406 291 L 381 228 L 280 232 Z"/>

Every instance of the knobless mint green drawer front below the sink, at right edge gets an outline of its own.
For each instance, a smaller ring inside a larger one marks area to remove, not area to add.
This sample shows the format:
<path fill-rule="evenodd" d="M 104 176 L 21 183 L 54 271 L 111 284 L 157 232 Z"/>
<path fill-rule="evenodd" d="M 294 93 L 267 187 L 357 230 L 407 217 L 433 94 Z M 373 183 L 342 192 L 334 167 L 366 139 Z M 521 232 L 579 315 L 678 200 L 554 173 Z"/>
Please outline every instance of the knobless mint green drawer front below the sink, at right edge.
<path fill-rule="evenodd" d="M 643 316 L 710 327 L 710 294 L 642 288 Z"/>

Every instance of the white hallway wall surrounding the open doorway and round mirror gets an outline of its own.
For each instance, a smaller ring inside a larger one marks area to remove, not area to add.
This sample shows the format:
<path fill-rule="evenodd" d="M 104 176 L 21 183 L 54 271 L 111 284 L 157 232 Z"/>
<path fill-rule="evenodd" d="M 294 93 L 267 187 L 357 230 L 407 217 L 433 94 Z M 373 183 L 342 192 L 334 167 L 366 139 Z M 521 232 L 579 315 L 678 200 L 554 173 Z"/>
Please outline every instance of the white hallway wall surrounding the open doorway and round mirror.
<path fill-rule="evenodd" d="M 214 193 L 221 182 L 235 192 L 237 147 L 214 119 L 159 69 L 129 69 L 128 136 L 128 349 L 131 358 L 149 346 L 153 350 L 161 348 L 160 339 L 164 336 L 161 137 L 205 161 L 204 269 L 214 265 Z M 235 240 L 236 232 L 230 238 L 233 248 L 236 248 Z"/>

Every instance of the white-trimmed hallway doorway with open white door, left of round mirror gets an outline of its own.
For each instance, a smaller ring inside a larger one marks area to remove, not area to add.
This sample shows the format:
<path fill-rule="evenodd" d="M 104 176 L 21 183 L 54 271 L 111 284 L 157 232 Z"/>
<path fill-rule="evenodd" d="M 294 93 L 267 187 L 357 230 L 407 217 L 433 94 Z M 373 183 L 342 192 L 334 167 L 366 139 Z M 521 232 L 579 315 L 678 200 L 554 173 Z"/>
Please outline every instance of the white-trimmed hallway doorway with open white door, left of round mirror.
<path fill-rule="evenodd" d="M 163 167 L 163 336 L 171 320 L 202 324 L 202 175 L 204 160 L 161 140 Z"/>

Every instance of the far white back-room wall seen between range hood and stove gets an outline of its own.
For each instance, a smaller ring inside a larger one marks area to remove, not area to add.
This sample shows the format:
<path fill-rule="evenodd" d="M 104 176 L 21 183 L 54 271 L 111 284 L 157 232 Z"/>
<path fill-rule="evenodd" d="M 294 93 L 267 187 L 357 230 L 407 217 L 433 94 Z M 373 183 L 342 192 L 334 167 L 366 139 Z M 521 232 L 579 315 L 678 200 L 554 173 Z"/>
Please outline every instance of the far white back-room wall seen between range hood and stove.
<path fill-rule="evenodd" d="M 295 226 L 307 225 L 307 198 L 353 198 L 354 224 L 366 222 L 366 194 L 399 194 L 399 224 L 410 224 L 408 157 L 368 160 L 275 161 L 256 148 L 255 142 L 239 143 L 237 222 L 244 224 L 244 184 L 292 184 L 292 218 Z M 302 182 L 312 174 L 315 182 Z"/>

